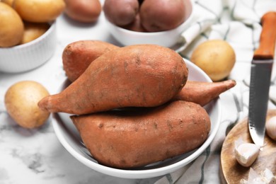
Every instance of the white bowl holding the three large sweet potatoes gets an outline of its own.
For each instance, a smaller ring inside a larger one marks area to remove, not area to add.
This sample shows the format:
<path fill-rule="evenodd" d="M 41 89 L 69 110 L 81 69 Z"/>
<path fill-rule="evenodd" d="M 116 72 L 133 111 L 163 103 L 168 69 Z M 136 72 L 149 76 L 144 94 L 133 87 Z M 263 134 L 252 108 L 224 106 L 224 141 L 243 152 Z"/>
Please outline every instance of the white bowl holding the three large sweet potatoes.
<path fill-rule="evenodd" d="M 195 64 L 192 64 L 192 62 L 189 62 L 188 60 L 185 61 L 189 69 L 189 80 L 212 81 L 209 79 L 209 76 L 207 76 L 207 74 L 202 71 L 202 69 L 195 66 Z M 68 81 L 64 81 L 64 84 L 62 84 L 62 86 L 59 88 L 59 91 L 62 91 L 67 85 Z M 187 165 L 191 161 L 195 160 L 197 156 L 200 156 L 200 154 L 205 151 L 207 146 L 209 146 L 209 144 L 214 139 L 214 136 L 217 134 L 217 130 L 219 129 L 219 122 L 221 118 L 220 99 L 217 98 L 216 100 L 213 100 L 205 106 L 205 109 L 211 118 L 211 130 L 207 140 L 204 144 L 202 144 L 202 146 L 200 146 L 198 149 L 190 151 L 187 154 L 182 154 L 172 159 L 167 159 L 166 161 L 152 163 L 148 166 L 144 166 L 139 169 L 136 168 L 133 170 L 110 168 L 108 166 L 99 164 L 95 159 L 93 159 L 93 156 L 91 156 L 89 151 L 86 149 L 86 146 L 84 146 L 84 143 L 81 141 L 79 132 L 76 130 L 76 127 L 69 118 L 69 114 L 54 114 L 52 118 L 52 125 L 59 142 L 62 143 L 64 148 L 67 149 L 67 151 L 69 151 L 72 156 L 74 156 L 81 163 L 84 163 L 84 165 L 88 166 L 89 168 L 118 178 L 151 178 L 156 176 L 163 176 Z"/>

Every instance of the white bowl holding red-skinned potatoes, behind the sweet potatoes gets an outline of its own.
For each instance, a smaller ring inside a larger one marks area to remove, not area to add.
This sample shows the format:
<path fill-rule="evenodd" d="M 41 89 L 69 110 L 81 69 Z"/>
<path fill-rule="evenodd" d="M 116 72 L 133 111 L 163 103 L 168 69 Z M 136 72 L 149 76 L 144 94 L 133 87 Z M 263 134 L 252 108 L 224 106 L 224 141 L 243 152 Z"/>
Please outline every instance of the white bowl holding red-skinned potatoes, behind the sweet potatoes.
<path fill-rule="evenodd" d="M 192 1 L 190 1 L 190 3 L 192 7 L 190 10 L 190 16 L 184 23 L 179 25 L 177 28 L 174 28 L 173 30 L 154 33 L 142 33 L 120 28 L 117 25 L 110 23 L 106 18 L 105 19 L 111 35 L 113 35 L 113 37 L 124 46 L 134 44 L 156 44 L 163 47 L 173 47 L 180 40 L 181 33 L 183 33 L 183 31 L 187 29 L 192 22 L 194 5 Z"/>

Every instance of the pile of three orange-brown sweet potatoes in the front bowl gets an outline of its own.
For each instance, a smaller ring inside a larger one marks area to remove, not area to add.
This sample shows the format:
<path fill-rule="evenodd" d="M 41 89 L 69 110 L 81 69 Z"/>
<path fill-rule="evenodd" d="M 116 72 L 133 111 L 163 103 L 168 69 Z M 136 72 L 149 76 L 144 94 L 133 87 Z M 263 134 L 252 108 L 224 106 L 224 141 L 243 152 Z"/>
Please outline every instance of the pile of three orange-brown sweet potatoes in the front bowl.
<path fill-rule="evenodd" d="M 180 54 L 159 45 L 117 47 L 72 42 L 62 54 L 71 83 L 38 102 L 48 113 L 69 113 L 94 159 L 135 168 L 202 145 L 211 122 L 204 105 L 235 81 L 188 81 Z"/>

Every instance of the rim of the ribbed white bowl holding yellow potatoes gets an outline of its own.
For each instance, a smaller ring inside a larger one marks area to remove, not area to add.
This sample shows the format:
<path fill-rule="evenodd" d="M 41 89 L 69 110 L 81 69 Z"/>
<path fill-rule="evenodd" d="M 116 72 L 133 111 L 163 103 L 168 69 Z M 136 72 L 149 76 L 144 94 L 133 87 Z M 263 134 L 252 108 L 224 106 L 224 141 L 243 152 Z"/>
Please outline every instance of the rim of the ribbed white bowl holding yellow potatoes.
<path fill-rule="evenodd" d="M 4 51 L 4 50 L 21 50 L 24 47 L 28 47 L 31 45 L 36 45 L 38 42 L 40 42 L 41 40 L 44 40 L 48 35 L 50 35 L 50 33 L 53 32 L 55 26 L 56 26 L 56 21 L 52 21 L 48 23 L 50 25 L 50 27 L 46 30 L 46 32 L 41 35 L 38 38 L 35 38 L 35 40 L 32 40 L 30 42 L 26 42 L 24 44 L 21 45 L 15 45 L 13 47 L 0 47 L 0 51 Z"/>

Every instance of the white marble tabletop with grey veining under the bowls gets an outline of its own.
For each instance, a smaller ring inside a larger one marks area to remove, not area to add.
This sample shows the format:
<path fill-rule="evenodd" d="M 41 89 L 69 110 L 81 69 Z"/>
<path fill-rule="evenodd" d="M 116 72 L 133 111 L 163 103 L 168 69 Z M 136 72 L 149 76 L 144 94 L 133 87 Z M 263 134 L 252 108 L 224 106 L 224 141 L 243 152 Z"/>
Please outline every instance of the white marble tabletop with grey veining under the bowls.
<path fill-rule="evenodd" d="M 123 179 L 93 171 L 74 159 L 59 143 L 51 120 L 35 130 L 16 125 L 5 111 L 4 95 L 17 81 L 40 82 L 50 93 L 55 93 L 65 79 L 62 51 L 76 40 L 103 40 L 117 45 L 105 25 L 103 13 L 95 24 L 57 18 L 57 48 L 53 57 L 37 69 L 21 74 L 0 73 L 0 183 L 154 183 L 158 178 Z"/>

